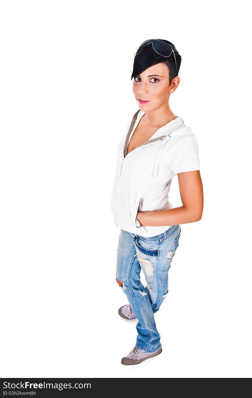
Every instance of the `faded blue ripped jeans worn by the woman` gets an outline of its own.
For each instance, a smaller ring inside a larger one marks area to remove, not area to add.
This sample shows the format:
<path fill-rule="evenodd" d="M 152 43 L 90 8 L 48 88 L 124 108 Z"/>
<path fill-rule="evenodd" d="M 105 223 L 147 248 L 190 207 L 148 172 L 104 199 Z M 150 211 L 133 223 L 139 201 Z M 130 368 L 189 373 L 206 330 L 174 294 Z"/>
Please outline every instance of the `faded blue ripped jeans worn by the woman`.
<path fill-rule="evenodd" d="M 121 229 L 117 248 L 116 279 L 138 319 L 136 346 L 147 352 L 161 347 L 154 313 L 168 293 L 168 271 L 178 248 L 180 225 L 145 238 Z M 146 287 L 140 281 L 143 271 Z"/>

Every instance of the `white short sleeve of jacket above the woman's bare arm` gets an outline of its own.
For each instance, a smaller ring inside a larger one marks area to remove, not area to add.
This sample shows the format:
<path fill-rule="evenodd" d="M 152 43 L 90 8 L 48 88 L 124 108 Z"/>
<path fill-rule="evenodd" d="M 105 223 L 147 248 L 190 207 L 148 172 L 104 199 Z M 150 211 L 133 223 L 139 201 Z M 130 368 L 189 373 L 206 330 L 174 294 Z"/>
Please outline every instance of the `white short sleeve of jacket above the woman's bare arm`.
<path fill-rule="evenodd" d="M 171 152 L 170 169 L 174 174 L 199 170 L 199 146 L 194 135 L 179 140 Z"/>

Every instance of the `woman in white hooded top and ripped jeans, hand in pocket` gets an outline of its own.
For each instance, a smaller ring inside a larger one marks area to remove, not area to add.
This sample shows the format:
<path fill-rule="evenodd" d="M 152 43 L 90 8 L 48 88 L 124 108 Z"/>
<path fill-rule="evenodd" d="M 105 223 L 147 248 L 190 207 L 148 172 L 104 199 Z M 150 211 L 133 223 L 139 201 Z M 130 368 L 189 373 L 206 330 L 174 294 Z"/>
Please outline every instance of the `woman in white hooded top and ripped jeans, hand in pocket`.
<path fill-rule="evenodd" d="M 138 319 L 135 347 L 121 359 L 123 365 L 136 365 L 162 352 L 154 313 L 168 293 L 180 224 L 199 221 L 203 212 L 197 140 L 169 107 L 170 94 L 180 83 L 180 64 L 181 56 L 166 40 L 147 40 L 135 53 L 131 79 L 140 109 L 118 146 L 111 199 L 121 228 L 115 276 L 129 302 L 118 312 Z M 176 174 L 183 205 L 173 208 L 168 193 Z M 146 287 L 140 281 L 141 269 Z"/>

